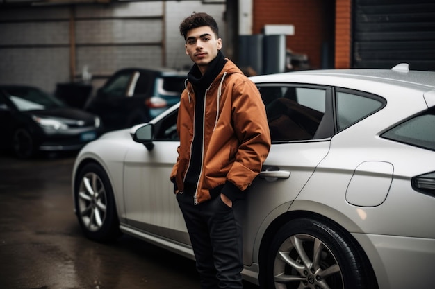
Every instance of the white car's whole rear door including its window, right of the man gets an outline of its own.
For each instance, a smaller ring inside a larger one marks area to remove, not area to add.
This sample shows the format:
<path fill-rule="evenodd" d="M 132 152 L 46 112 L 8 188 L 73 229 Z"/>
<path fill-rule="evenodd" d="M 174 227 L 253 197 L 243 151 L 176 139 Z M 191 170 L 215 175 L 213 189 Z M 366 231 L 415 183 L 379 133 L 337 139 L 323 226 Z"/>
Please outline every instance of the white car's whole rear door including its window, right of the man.
<path fill-rule="evenodd" d="M 329 151 L 334 134 L 331 88 L 257 84 L 265 103 L 272 146 L 249 189 L 243 221 L 245 265 L 258 262 L 261 237 L 288 207 Z"/>

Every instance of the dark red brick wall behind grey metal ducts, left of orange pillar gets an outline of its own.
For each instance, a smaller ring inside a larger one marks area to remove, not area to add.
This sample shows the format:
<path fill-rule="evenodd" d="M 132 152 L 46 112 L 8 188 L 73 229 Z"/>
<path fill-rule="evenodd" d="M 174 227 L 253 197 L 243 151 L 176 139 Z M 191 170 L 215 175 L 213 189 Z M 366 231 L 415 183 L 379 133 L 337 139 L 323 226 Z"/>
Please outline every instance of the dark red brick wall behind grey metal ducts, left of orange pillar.
<path fill-rule="evenodd" d="M 320 68 L 323 42 L 334 42 L 334 27 L 326 24 L 328 17 L 334 17 L 330 14 L 334 0 L 254 0 L 253 4 L 253 34 L 263 33 L 265 24 L 292 24 L 295 35 L 286 37 L 287 48 L 308 55 L 311 68 Z"/>

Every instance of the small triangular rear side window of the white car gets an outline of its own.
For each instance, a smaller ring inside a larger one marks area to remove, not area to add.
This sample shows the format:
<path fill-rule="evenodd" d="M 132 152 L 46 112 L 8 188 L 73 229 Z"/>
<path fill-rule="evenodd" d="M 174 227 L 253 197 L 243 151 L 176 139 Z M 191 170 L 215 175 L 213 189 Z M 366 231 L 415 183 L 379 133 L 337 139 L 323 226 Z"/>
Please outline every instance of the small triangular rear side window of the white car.
<path fill-rule="evenodd" d="M 352 91 L 336 91 L 337 130 L 340 132 L 384 106 L 384 101 Z"/>

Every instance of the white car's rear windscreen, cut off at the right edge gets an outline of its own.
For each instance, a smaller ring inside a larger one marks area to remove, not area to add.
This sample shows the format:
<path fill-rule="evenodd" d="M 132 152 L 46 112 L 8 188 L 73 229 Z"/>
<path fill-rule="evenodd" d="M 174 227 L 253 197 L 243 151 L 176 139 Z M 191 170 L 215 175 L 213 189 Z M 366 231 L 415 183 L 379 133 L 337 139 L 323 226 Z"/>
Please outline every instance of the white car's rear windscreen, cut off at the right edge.
<path fill-rule="evenodd" d="M 435 150 L 435 108 L 427 110 L 381 134 L 385 139 Z"/>

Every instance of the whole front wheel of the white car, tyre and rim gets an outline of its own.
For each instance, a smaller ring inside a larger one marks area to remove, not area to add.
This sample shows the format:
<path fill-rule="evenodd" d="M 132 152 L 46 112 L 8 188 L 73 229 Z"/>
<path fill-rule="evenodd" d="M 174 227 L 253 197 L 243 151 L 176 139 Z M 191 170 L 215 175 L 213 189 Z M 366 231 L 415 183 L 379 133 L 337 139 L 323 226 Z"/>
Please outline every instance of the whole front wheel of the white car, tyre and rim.
<path fill-rule="evenodd" d="M 86 164 L 74 186 L 76 215 L 86 237 L 99 242 L 120 236 L 112 186 L 106 172 L 97 164 Z"/>

